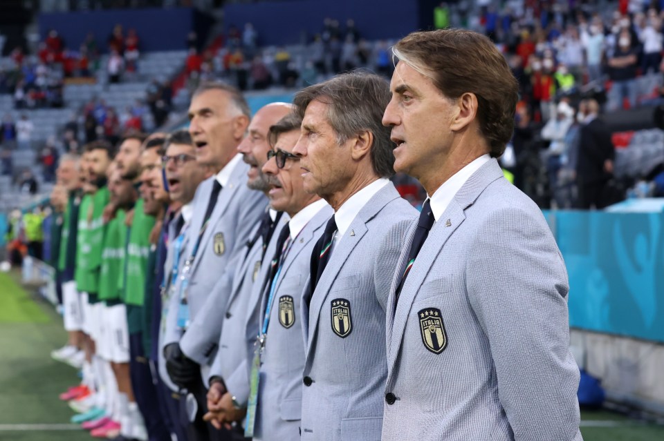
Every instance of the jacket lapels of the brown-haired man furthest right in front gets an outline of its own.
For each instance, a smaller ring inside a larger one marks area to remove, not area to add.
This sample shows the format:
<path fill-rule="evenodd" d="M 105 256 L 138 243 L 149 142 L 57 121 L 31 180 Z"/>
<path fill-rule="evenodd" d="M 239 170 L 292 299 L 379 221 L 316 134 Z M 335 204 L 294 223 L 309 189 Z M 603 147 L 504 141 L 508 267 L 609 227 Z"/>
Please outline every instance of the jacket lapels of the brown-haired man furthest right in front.
<path fill-rule="evenodd" d="M 481 166 L 479 170 L 473 173 L 470 178 L 468 178 L 468 181 L 466 181 L 461 189 L 459 189 L 457 194 L 454 195 L 454 199 L 452 199 L 452 202 L 450 202 L 448 208 L 443 212 L 443 215 L 441 215 L 440 219 L 434 224 L 434 227 L 430 231 L 426 242 L 418 254 L 415 264 L 411 268 L 410 274 L 401 290 L 396 311 L 394 308 L 394 290 L 400 280 L 401 273 L 399 273 L 398 276 L 395 276 L 390 288 L 390 301 L 388 302 L 391 306 L 388 315 L 393 316 L 394 320 L 387 319 L 388 323 L 391 324 L 391 332 L 387 333 L 389 338 L 387 343 L 387 366 L 390 371 L 394 366 L 394 362 L 396 362 L 396 357 L 399 353 L 411 306 L 425 280 L 425 277 L 429 274 L 436 257 L 438 257 L 445 242 L 447 242 L 452 236 L 452 233 L 457 231 L 457 228 L 459 228 L 465 220 L 465 210 L 475 202 L 477 197 L 481 195 L 489 184 L 501 178 L 504 179 L 504 175 L 497 160 L 491 159 Z M 416 223 L 414 225 L 416 225 Z M 407 247 L 405 247 L 405 255 L 407 255 L 409 251 L 413 235 L 414 227 L 409 231 L 409 240 Z M 404 253 L 402 253 L 402 257 L 405 259 Z M 403 264 L 401 271 L 403 271 Z"/>

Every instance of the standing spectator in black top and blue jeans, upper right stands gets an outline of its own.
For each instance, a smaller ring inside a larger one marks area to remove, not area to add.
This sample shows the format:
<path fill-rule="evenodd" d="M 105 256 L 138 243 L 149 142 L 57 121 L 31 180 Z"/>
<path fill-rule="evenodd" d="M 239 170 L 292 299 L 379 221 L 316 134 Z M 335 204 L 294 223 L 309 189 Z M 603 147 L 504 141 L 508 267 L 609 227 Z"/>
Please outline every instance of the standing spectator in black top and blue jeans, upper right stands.
<path fill-rule="evenodd" d="M 627 28 L 620 30 L 616 49 L 609 57 L 609 78 L 613 81 L 609 91 L 609 110 L 623 107 L 623 101 L 629 101 L 629 107 L 636 106 L 636 66 L 638 51 L 631 46 L 631 36 Z"/>

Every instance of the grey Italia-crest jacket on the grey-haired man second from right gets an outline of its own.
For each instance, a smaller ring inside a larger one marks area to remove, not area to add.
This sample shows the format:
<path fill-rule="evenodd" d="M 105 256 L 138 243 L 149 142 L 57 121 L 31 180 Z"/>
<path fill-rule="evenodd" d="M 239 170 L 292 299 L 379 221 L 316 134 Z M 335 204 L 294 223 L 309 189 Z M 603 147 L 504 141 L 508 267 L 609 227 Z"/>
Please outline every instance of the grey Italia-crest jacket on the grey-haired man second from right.
<path fill-rule="evenodd" d="M 380 189 L 333 246 L 311 308 L 303 302 L 303 440 L 380 440 L 387 293 L 416 216 L 393 184 Z"/>

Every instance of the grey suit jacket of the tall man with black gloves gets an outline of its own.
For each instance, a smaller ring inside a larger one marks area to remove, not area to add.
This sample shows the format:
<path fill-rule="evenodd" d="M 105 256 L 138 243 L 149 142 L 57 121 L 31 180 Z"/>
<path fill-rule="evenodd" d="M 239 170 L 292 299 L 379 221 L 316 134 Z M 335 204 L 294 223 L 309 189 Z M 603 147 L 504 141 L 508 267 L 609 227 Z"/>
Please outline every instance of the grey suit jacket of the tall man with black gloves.
<path fill-rule="evenodd" d="M 172 298 L 169 308 L 165 342 L 168 344 L 179 340 L 183 353 L 201 364 L 204 379 L 208 377 L 219 343 L 235 271 L 234 264 L 237 264 L 235 259 L 239 258 L 239 251 L 246 251 L 246 241 L 250 239 L 252 228 L 259 222 L 267 205 L 263 193 L 246 186 L 247 169 L 248 165 L 243 162 L 234 166 L 201 237 L 198 253 L 190 269 L 187 288 L 190 326 L 184 335 L 177 326 L 179 298 Z M 216 176 L 206 179 L 196 190 L 192 202 L 194 216 L 187 231 L 187 258 L 192 255 L 201 231 L 214 179 Z M 178 280 L 178 284 L 181 284 L 181 280 Z"/>

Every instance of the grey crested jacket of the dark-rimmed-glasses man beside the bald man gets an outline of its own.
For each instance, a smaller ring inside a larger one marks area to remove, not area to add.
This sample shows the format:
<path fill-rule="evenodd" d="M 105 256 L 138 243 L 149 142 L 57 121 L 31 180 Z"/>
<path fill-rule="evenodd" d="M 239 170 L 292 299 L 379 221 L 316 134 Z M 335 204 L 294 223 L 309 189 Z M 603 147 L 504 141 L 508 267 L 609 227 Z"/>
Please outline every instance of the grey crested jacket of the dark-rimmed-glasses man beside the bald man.
<path fill-rule="evenodd" d="M 255 440 L 297 440 L 302 415 L 302 290 L 308 280 L 311 251 L 333 215 L 326 205 L 306 224 L 283 260 L 276 280 L 266 344 L 261 358 Z M 265 320 L 270 287 L 261 297 L 259 323 Z"/>

